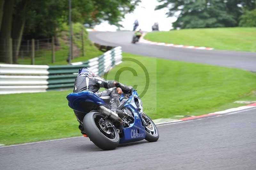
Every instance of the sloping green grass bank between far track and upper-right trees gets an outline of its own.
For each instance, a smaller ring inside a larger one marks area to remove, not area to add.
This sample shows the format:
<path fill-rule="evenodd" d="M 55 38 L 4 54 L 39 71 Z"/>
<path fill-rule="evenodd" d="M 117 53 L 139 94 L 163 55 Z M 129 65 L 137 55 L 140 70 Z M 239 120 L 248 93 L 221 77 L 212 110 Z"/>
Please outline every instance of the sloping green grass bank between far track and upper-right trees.
<path fill-rule="evenodd" d="M 151 32 L 153 42 L 213 47 L 218 50 L 256 52 L 256 27 L 201 28 Z"/>

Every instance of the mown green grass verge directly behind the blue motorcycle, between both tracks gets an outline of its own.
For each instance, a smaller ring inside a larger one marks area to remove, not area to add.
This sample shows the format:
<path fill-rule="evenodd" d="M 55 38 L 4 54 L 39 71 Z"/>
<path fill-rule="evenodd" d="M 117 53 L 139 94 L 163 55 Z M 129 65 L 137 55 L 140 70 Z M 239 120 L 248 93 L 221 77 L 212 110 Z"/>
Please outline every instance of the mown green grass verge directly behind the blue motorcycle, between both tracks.
<path fill-rule="evenodd" d="M 152 118 L 175 118 L 175 115 L 200 115 L 240 106 L 236 100 L 256 100 L 255 73 L 203 64 L 193 64 L 124 53 L 136 62 L 124 61 L 107 75 L 127 85 L 145 87 L 146 77 L 138 66 L 143 63 L 149 73 L 149 88 L 142 97 L 145 112 Z M 117 73 L 122 68 L 130 71 Z M 106 76 L 106 75 L 105 75 Z M 13 144 L 81 135 L 76 117 L 68 107 L 66 91 L 0 95 L 0 143 Z"/>

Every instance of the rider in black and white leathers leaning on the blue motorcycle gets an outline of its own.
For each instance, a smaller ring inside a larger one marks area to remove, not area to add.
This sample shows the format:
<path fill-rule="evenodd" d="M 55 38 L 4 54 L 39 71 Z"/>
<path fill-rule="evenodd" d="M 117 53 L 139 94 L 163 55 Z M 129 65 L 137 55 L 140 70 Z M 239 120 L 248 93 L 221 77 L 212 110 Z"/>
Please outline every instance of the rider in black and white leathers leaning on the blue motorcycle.
<path fill-rule="evenodd" d="M 101 87 L 107 90 L 98 92 Z M 128 87 L 117 81 L 108 81 L 100 76 L 96 76 L 94 72 L 89 67 L 84 67 L 79 70 L 76 77 L 73 93 L 78 93 L 81 91 L 92 91 L 96 93 L 99 97 L 109 96 L 110 100 L 110 110 L 113 112 L 120 112 L 118 105 L 120 104 L 120 94 L 122 91 L 124 93 L 131 93 L 132 87 Z M 84 119 L 85 113 L 74 111 L 77 120 L 81 123 Z"/>

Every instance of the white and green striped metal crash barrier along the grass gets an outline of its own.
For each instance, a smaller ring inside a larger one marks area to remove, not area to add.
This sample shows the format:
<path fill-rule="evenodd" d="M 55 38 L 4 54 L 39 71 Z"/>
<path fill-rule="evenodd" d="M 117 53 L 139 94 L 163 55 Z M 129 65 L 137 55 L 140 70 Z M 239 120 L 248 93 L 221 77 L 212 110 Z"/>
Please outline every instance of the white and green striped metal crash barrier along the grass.
<path fill-rule="evenodd" d="M 113 48 L 99 57 L 71 65 L 13 65 L 0 64 L 0 94 L 45 92 L 73 88 L 79 68 L 90 67 L 102 75 L 122 62 L 121 47 Z"/>

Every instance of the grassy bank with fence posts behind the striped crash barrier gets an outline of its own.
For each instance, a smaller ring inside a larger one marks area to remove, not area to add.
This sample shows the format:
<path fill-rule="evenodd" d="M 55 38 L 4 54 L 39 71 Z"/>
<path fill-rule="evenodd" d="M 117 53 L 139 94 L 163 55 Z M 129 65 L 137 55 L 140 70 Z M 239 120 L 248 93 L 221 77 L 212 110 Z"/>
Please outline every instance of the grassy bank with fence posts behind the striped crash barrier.
<path fill-rule="evenodd" d="M 51 50 L 39 50 L 36 51 L 35 56 L 41 56 L 41 57 L 35 57 L 35 65 L 66 65 L 68 64 L 67 58 L 68 58 L 68 51 L 69 47 L 64 42 L 63 38 L 69 37 L 68 33 L 69 26 L 63 25 L 63 31 L 61 32 L 59 36 L 59 43 L 60 46 L 57 47 L 54 53 L 55 56 L 55 62 L 52 63 L 52 51 Z M 81 31 L 84 29 L 84 51 L 85 56 L 82 56 L 82 38 L 81 38 Z M 72 59 L 72 62 L 77 61 L 85 61 L 90 58 L 98 57 L 103 52 L 98 50 L 97 47 L 94 46 L 94 44 L 89 40 L 88 38 L 88 32 L 86 31 L 86 28 L 83 27 L 80 23 L 74 23 L 73 24 L 73 43 L 74 46 L 79 48 L 81 50 L 80 56 Z M 31 58 L 18 58 L 19 64 L 31 64 Z"/>

